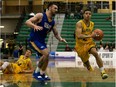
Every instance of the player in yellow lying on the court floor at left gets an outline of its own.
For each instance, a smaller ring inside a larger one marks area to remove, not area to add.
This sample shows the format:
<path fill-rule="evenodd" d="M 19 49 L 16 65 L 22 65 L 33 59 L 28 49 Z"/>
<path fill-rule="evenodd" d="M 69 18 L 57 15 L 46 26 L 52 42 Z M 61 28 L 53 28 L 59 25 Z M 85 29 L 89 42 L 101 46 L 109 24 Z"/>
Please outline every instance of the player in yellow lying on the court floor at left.
<path fill-rule="evenodd" d="M 25 54 L 21 55 L 16 63 L 0 62 L 0 70 L 2 70 L 4 74 L 32 73 L 33 66 L 30 59 L 31 54 L 32 51 L 27 49 Z"/>

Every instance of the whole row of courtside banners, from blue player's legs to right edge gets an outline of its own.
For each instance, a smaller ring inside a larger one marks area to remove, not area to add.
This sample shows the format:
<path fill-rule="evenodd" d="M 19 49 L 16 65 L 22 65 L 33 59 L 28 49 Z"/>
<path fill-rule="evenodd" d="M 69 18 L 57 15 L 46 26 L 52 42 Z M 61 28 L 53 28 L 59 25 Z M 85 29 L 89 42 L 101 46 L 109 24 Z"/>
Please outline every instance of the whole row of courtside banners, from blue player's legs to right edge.
<path fill-rule="evenodd" d="M 105 68 L 116 68 L 116 52 L 98 52 Z M 84 67 L 81 58 L 76 52 L 50 52 L 50 67 Z M 98 67 L 93 55 L 89 58 L 93 67 Z"/>

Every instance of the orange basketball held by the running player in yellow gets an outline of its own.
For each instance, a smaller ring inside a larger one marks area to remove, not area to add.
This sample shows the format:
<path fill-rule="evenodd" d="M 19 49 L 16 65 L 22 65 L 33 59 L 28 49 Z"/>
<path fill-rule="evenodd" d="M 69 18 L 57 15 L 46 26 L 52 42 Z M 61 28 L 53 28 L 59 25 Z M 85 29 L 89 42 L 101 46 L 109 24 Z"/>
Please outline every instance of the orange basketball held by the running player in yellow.
<path fill-rule="evenodd" d="M 102 40 L 104 33 L 101 29 L 95 29 L 93 33 L 95 33 L 95 36 L 93 37 L 94 40 L 97 40 L 97 41 Z"/>

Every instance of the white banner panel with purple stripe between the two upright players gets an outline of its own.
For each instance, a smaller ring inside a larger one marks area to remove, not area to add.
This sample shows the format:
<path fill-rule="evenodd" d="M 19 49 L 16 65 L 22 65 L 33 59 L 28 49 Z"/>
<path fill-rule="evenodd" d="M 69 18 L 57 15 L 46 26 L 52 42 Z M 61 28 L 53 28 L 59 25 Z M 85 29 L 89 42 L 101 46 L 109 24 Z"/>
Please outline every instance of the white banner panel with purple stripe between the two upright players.
<path fill-rule="evenodd" d="M 75 67 L 75 52 L 55 52 L 56 67 Z"/>

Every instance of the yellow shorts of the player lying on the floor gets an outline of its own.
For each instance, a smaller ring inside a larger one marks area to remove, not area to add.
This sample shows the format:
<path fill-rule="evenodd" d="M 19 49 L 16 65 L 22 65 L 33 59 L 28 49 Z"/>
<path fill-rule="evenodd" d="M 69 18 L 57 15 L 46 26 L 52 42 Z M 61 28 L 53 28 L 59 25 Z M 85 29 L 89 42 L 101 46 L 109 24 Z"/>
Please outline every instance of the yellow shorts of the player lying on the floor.
<path fill-rule="evenodd" d="M 20 72 L 22 72 L 20 66 L 18 66 L 18 64 L 15 63 L 11 63 L 10 67 L 6 68 L 3 71 L 5 74 L 18 74 Z"/>

